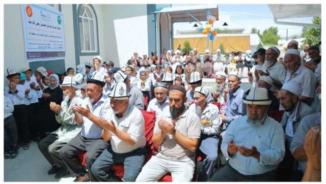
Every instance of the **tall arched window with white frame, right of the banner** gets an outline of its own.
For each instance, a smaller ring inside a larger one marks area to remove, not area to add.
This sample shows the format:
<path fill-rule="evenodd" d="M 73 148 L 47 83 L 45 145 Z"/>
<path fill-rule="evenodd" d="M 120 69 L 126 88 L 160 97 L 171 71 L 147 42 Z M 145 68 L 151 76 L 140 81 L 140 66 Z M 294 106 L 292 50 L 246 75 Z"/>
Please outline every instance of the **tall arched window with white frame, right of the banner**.
<path fill-rule="evenodd" d="M 79 6 L 78 25 L 80 52 L 97 52 L 97 20 L 91 6 Z"/>

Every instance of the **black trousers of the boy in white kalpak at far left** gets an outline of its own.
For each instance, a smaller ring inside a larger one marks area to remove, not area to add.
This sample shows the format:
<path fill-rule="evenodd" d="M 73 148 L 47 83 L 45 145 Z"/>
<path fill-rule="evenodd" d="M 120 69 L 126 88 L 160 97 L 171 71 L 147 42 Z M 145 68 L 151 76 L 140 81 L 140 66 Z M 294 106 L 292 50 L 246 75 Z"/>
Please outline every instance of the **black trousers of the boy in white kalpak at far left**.
<path fill-rule="evenodd" d="M 30 129 L 28 125 L 28 111 L 26 105 L 14 105 L 14 117 L 17 125 L 18 142 L 30 142 Z"/>

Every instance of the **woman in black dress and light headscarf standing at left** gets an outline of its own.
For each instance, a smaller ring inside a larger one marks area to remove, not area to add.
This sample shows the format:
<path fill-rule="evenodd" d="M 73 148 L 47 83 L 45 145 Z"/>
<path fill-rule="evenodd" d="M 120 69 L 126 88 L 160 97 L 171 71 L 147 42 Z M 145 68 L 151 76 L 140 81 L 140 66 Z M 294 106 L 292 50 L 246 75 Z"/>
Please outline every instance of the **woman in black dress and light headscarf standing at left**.
<path fill-rule="evenodd" d="M 40 108 L 37 112 L 36 122 L 38 124 L 38 132 L 40 137 L 44 138 L 45 132 L 52 132 L 60 127 L 55 113 L 50 109 L 50 102 L 61 104 L 63 100 L 63 91 L 59 86 L 59 76 L 52 74 L 49 76 L 49 87 L 43 90 L 42 97 L 39 98 Z"/>

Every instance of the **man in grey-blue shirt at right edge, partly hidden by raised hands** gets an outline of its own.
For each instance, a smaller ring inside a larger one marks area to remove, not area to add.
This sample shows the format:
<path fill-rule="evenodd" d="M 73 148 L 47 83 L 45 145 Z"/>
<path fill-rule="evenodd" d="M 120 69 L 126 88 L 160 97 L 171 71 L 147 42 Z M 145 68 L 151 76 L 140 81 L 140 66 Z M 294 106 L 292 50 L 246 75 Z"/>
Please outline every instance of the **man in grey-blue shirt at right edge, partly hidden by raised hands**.
<path fill-rule="evenodd" d="M 290 150 L 293 158 L 298 162 L 298 172 L 295 177 L 297 180 L 301 180 L 307 167 L 307 154 L 304 149 L 305 137 L 311 128 L 317 128 L 321 131 L 321 113 L 317 112 L 304 117 L 298 125 L 295 134 L 293 136 Z"/>

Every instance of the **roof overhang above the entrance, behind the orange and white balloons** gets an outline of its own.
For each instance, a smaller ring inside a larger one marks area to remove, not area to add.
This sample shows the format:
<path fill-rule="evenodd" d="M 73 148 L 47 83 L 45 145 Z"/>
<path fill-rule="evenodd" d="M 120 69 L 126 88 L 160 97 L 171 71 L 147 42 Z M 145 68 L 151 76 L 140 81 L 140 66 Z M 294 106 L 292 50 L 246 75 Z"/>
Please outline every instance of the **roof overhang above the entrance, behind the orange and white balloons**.
<path fill-rule="evenodd" d="M 168 13 L 173 22 L 206 21 L 207 14 L 219 20 L 219 9 L 217 4 L 167 7 L 156 10 L 153 13 Z"/>

